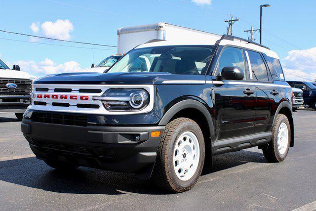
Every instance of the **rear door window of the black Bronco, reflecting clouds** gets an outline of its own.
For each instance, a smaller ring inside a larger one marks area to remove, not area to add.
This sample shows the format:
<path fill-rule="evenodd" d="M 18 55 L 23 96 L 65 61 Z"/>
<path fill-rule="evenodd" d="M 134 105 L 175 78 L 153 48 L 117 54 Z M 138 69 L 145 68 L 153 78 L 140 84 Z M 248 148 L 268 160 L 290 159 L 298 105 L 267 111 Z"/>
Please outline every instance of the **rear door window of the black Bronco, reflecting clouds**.
<path fill-rule="evenodd" d="M 264 81 L 264 82 L 269 81 L 267 68 L 260 53 L 254 52 L 251 50 L 247 50 L 247 52 L 248 52 L 250 67 L 252 71 L 252 73 L 250 74 L 252 74 L 253 80 Z"/>

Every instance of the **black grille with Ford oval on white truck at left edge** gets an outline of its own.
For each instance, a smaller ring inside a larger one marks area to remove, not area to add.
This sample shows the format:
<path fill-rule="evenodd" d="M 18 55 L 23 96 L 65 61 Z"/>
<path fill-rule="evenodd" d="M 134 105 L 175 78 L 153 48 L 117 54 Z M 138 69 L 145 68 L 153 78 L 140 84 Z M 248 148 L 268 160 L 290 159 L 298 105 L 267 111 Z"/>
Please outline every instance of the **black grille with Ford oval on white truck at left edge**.
<path fill-rule="evenodd" d="M 5 84 L 13 83 L 16 84 L 17 87 L 14 89 L 10 89 L 5 87 Z M 23 79 L 0 79 L 0 93 L 1 94 L 9 94 L 9 93 L 21 93 L 28 94 L 32 89 L 32 81 L 31 80 L 23 80 Z"/>

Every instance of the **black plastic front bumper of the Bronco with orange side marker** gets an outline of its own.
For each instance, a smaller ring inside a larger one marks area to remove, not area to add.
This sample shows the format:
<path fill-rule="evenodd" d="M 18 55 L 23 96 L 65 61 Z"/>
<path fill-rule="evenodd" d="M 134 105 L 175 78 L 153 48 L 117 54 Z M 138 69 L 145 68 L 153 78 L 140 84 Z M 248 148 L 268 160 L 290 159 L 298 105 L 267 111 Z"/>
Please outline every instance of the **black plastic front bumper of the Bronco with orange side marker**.
<path fill-rule="evenodd" d="M 69 126 L 23 119 L 23 135 L 41 160 L 66 161 L 79 166 L 136 173 L 150 178 L 164 126 L 104 127 Z M 135 141 L 139 135 L 140 140 Z"/>

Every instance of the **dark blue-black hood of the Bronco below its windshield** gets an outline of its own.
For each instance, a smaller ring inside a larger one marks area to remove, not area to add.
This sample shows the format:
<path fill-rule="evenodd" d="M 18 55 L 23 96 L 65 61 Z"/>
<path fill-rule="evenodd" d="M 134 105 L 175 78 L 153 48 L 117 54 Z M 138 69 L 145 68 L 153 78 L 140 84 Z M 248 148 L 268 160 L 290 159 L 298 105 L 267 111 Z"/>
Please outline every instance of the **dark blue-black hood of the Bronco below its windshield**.
<path fill-rule="evenodd" d="M 206 77 L 200 75 L 174 75 L 170 73 L 63 73 L 40 78 L 34 84 L 164 84 L 165 81 L 201 81 Z M 170 83 L 169 83 L 170 84 Z"/>

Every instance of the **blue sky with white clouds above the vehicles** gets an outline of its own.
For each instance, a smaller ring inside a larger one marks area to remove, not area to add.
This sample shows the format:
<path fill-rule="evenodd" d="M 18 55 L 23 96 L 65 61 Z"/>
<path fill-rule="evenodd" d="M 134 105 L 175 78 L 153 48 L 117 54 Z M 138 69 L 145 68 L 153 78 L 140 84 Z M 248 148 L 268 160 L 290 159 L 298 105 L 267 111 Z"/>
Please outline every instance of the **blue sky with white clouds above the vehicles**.
<path fill-rule="evenodd" d="M 167 22 L 226 34 L 231 14 L 239 18 L 233 35 L 259 27 L 262 44 L 280 57 L 287 80 L 316 79 L 315 0 L 1 0 L 0 30 L 68 41 L 117 45 L 119 27 Z M 255 34 L 259 42 L 259 32 Z M 0 57 L 33 76 L 74 72 L 116 54 L 115 47 L 50 41 L 0 32 Z"/>

